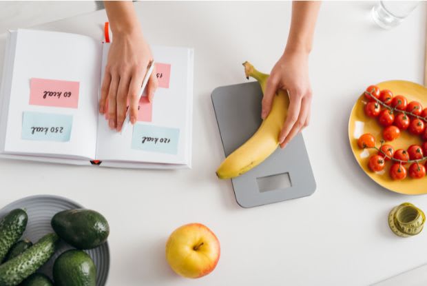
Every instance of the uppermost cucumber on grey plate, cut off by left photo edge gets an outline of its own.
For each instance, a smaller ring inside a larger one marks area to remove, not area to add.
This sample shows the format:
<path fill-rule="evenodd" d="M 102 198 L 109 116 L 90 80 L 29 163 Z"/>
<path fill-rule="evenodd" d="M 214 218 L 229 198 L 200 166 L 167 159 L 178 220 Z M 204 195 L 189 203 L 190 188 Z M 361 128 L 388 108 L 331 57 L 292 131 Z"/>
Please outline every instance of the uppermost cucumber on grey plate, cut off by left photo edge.
<path fill-rule="evenodd" d="M 0 262 L 8 254 L 10 247 L 21 238 L 27 227 L 28 216 L 24 210 L 16 209 L 0 222 Z"/>

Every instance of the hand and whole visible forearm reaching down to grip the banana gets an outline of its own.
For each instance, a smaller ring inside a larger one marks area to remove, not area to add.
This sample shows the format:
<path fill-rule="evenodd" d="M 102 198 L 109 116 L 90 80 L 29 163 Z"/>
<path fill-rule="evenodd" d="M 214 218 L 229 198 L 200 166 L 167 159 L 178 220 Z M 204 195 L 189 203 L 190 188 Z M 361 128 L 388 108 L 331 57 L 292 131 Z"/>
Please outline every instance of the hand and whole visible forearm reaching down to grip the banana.
<path fill-rule="evenodd" d="M 310 122 L 309 54 L 319 8 L 320 1 L 293 1 L 287 46 L 271 70 L 262 99 L 262 119 L 265 119 L 275 92 L 279 89 L 289 92 L 288 115 L 279 135 L 282 148 Z"/>

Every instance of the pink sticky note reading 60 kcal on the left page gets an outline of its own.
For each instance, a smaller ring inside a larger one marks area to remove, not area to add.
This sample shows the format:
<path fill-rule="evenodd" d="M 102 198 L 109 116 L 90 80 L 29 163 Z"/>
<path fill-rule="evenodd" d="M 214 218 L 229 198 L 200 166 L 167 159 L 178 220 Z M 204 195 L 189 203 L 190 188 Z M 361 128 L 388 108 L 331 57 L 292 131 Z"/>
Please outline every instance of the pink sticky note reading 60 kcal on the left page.
<path fill-rule="evenodd" d="M 32 78 L 30 80 L 30 104 L 77 108 L 79 85 L 78 81 Z"/>

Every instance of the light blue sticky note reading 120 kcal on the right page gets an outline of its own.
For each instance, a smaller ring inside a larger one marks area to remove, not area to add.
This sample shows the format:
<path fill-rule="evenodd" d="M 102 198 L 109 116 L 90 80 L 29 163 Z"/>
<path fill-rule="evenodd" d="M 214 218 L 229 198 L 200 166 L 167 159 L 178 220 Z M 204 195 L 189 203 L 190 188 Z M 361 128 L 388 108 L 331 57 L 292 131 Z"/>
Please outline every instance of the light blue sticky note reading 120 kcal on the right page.
<path fill-rule="evenodd" d="M 166 154 L 178 153 L 179 129 L 136 123 L 132 149 Z"/>

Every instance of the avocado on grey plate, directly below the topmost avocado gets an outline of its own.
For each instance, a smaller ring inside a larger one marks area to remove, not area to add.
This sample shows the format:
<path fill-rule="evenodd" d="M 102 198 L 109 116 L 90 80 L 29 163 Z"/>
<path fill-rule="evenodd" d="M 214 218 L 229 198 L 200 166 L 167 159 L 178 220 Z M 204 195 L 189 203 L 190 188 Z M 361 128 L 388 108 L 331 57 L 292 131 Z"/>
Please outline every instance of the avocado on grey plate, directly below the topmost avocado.
<path fill-rule="evenodd" d="M 82 250 L 70 249 L 54 263 L 56 286 L 96 286 L 96 267 L 92 258 Z"/>

